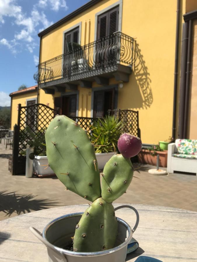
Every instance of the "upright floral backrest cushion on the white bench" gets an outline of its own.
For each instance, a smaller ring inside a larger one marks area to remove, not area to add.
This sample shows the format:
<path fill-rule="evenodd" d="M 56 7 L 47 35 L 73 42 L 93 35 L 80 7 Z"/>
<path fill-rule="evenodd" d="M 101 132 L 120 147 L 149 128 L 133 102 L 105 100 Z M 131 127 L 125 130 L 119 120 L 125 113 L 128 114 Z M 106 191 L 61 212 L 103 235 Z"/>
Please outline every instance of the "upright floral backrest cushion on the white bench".
<path fill-rule="evenodd" d="M 197 140 L 176 139 L 175 145 L 179 154 L 197 155 Z"/>

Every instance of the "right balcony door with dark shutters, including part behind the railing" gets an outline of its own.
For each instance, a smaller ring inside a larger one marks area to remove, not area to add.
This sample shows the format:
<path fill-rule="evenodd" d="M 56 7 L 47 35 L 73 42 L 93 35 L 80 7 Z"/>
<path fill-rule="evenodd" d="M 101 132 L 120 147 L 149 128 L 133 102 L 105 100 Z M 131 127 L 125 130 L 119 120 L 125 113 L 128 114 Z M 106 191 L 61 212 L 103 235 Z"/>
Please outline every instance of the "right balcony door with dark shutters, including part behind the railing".
<path fill-rule="evenodd" d="M 117 46 L 117 37 L 114 33 L 118 31 L 119 6 L 103 13 L 97 19 L 97 55 L 96 61 L 99 67 L 112 65 L 115 61 L 114 46 Z"/>

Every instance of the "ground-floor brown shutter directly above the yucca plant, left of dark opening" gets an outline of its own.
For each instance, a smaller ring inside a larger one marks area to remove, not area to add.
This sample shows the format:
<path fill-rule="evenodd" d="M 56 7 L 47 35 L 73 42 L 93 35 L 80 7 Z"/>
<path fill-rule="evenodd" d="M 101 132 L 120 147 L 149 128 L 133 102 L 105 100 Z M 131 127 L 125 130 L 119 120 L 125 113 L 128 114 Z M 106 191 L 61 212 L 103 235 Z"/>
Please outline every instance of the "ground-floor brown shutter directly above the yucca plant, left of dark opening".
<path fill-rule="evenodd" d="M 93 117 L 103 117 L 104 109 L 104 91 L 94 92 Z"/>

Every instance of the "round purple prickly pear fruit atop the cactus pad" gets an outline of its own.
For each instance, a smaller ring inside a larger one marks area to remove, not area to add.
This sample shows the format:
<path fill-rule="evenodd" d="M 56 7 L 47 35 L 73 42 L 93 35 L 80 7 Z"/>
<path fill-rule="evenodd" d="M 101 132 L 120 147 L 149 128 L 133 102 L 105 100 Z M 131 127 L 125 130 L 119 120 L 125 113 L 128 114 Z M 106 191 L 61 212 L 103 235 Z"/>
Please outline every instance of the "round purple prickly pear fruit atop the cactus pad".
<path fill-rule="evenodd" d="M 139 137 L 124 133 L 118 139 L 118 150 L 124 157 L 134 157 L 142 148 L 142 141 Z"/>

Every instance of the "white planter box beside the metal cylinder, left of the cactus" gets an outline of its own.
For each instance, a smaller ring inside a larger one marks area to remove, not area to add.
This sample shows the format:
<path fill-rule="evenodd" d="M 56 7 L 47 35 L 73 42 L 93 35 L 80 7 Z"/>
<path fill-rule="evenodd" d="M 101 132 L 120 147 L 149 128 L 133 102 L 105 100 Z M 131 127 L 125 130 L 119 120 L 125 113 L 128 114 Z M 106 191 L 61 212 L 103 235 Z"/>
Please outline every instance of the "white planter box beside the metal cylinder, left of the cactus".
<path fill-rule="evenodd" d="M 54 174 L 53 170 L 50 167 L 43 166 L 47 164 L 48 164 L 47 156 L 39 156 L 39 155 L 34 156 L 34 172 L 36 172 L 38 175 Z"/>

